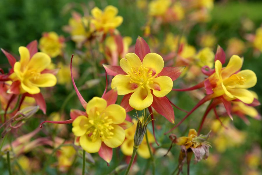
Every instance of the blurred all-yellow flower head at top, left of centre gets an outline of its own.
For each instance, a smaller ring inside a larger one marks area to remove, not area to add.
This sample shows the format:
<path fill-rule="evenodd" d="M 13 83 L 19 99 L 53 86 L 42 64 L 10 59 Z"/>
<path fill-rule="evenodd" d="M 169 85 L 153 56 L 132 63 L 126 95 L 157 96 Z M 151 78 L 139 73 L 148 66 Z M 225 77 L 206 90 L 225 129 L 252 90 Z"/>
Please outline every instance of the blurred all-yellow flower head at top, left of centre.
<path fill-rule="evenodd" d="M 97 31 L 104 31 L 107 33 L 110 29 L 115 29 L 123 22 L 122 16 L 116 16 L 118 9 L 114 6 L 107 6 L 104 11 L 95 7 L 91 10 L 93 19 L 91 24 L 94 25 Z"/>

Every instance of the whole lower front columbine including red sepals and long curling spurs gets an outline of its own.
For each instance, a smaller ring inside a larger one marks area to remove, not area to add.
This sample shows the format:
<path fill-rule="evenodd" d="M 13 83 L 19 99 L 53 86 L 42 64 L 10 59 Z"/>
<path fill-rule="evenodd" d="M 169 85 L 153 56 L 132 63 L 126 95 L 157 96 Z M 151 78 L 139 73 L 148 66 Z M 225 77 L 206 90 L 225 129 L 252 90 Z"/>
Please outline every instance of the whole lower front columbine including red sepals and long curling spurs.
<path fill-rule="evenodd" d="M 125 121 L 126 112 L 123 107 L 116 105 L 117 92 L 112 89 L 106 93 L 107 86 L 102 98 L 94 97 L 88 103 L 75 85 L 72 74 L 72 59 L 70 63 L 71 79 L 77 96 L 86 109 L 86 112 L 72 109 L 70 111 L 71 119 L 66 121 L 44 121 L 43 123 L 66 124 L 72 123 L 72 132 L 76 136 L 75 144 L 81 146 L 88 153 L 100 155 L 107 163 L 111 161 L 112 148 L 120 146 L 125 139 L 125 129 L 132 123 Z"/>

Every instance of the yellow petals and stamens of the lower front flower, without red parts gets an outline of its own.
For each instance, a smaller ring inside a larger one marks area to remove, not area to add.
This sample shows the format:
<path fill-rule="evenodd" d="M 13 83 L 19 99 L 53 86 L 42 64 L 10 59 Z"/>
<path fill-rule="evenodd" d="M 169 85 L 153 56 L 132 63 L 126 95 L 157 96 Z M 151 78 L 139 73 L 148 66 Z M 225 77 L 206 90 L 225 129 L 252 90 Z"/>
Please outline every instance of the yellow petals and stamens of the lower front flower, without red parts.
<path fill-rule="evenodd" d="M 102 142 L 110 148 L 120 146 L 125 131 L 119 124 L 125 121 L 126 112 L 120 105 L 107 106 L 103 98 L 94 97 L 86 106 L 87 116 L 78 116 L 72 123 L 72 132 L 80 137 L 80 146 L 88 153 L 99 151 Z"/>

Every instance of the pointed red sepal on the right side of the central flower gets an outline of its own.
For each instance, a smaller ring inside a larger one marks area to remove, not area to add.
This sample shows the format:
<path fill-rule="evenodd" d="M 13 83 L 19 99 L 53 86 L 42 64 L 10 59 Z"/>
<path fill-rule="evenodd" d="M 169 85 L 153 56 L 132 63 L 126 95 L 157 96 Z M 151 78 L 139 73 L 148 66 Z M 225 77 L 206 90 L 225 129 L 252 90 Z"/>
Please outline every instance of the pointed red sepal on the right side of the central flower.
<path fill-rule="evenodd" d="M 183 70 L 185 69 L 186 66 L 182 66 L 182 67 L 165 67 L 162 69 L 162 71 L 156 76 L 156 77 L 160 77 L 160 76 L 168 76 L 172 79 L 172 81 L 175 81 L 180 74 L 183 72 Z"/>

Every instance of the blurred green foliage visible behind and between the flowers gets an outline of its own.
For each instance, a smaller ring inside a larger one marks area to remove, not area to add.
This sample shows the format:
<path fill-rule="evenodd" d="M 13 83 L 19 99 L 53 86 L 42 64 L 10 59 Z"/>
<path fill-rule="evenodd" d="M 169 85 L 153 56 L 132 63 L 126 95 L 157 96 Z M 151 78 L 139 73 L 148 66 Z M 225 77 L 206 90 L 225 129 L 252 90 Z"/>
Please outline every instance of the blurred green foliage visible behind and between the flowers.
<path fill-rule="evenodd" d="M 74 10 L 82 13 L 82 5 L 88 6 L 89 3 L 94 3 L 95 6 L 99 8 L 104 8 L 107 5 L 116 6 L 119 10 L 119 15 L 123 16 L 124 22 L 118 27 L 118 30 L 121 32 L 122 36 L 131 36 L 133 39 L 133 44 L 138 35 L 143 36 L 143 31 L 141 28 L 146 23 L 146 12 L 139 10 L 136 7 L 135 1 L 133 0 L 123 0 L 123 1 L 87 1 L 87 0 L 1 0 L 0 1 L 0 47 L 10 51 L 11 53 L 18 55 L 18 47 L 25 46 L 32 40 L 39 40 L 43 32 L 56 31 L 58 34 L 62 34 L 65 37 L 68 37 L 69 34 L 63 32 L 62 26 L 68 24 L 68 19 L 71 17 L 71 10 L 67 10 L 68 4 L 74 6 Z M 90 10 L 90 9 L 89 9 Z M 217 1 L 215 2 L 214 9 L 212 10 L 212 20 L 206 24 L 197 24 L 189 32 L 187 36 L 188 42 L 190 45 L 197 46 L 196 37 L 199 33 L 206 31 L 213 31 L 214 35 L 217 37 L 217 43 L 222 47 L 226 48 L 226 43 L 229 38 L 237 37 L 245 40 L 243 38 L 243 31 L 241 29 L 241 19 L 243 17 L 248 17 L 254 22 L 255 29 L 258 28 L 262 23 L 262 1 L 228 1 L 227 3 Z M 170 26 L 175 30 L 176 26 Z M 254 33 L 255 31 L 250 31 Z M 176 34 L 176 33 L 175 33 Z M 164 40 L 164 30 L 161 30 L 157 34 L 157 38 L 161 41 Z M 66 47 L 66 52 L 71 54 L 73 50 L 74 43 L 69 43 Z M 215 51 L 215 48 L 214 48 Z M 251 90 L 255 91 L 259 98 L 262 99 L 262 54 L 259 57 L 253 56 L 253 50 L 250 48 L 244 54 L 244 64 L 242 69 L 251 69 L 253 70 L 258 78 L 258 82 L 254 88 Z M 7 71 L 8 62 L 4 54 L 0 53 L 0 67 L 4 68 Z M 80 72 L 84 71 L 85 66 L 80 66 Z M 101 69 L 102 73 L 103 70 Z M 85 80 L 88 80 L 90 77 L 86 77 Z M 66 94 L 70 91 L 66 90 L 61 85 L 58 85 L 59 93 L 56 94 L 56 99 L 51 104 L 47 106 L 47 114 L 50 114 L 52 111 L 57 111 L 61 107 L 61 103 L 66 97 Z M 95 90 L 90 90 L 88 92 L 83 92 L 85 99 L 91 99 L 94 96 Z M 189 95 L 186 93 L 173 93 L 176 94 L 176 100 L 178 106 L 190 110 L 196 104 L 195 101 L 188 101 Z M 101 95 L 101 94 L 98 94 Z M 77 101 L 77 98 L 73 98 L 74 101 Z M 75 103 L 70 103 L 66 112 L 69 112 L 70 108 L 77 108 Z M 261 113 L 261 106 L 257 107 Z M 198 114 L 195 114 L 198 115 Z M 202 113 L 200 113 L 202 115 Z M 184 116 L 183 112 L 179 112 L 175 109 L 176 121 L 179 121 Z M 191 118 L 194 116 L 191 116 Z M 235 119 L 235 118 L 234 118 Z M 243 174 L 243 168 L 241 167 L 245 164 L 245 152 L 250 151 L 254 145 L 258 145 L 261 149 L 262 147 L 262 127 L 261 121 L 257 121 L 249 118 L 250 125 L 246 125 L 242 120 L 236 118 L 234 124 L 236 128 L 243 130 L 247 133 L 246 141 L 243 145 L 238 147 L 233 147 L 227 149 L 219 158 L 215 167 L 208 167 L 206 162 L 201 161 L 197 165 L 192 163 L 191 173 L 192 174 Z M 191 123 L 194 123 L 191 121 Z M 197 122 L 197 121 L 196 121 Z M 161 123 L 161 122 L 160 122 Z M 198 122 L 197 122 L 198 123 Z M 39 120 L 30 121 L 28 123 L 28 131 L 31 131 L 39 124 Z M 168 124 L 167 122 L 162 122 L 162 124 Z M 194 124 L 193 124 L 194 125 Z M 197 125 L 197 124 L 195 124 Z M 30 128 L 32 127 L 32 128 Z M 70 128 L 70 126 L 68 127 Z M 150 127 L 151 129 L 151 127 Z M 185 128 L 180 129 L 181 133 L 184 132 L 184 135 L 187 135 L 187 130 Z M 208 132 L 208 131 L 207 131 Z M 165 143 L 170 143 L 167 137 L 162 136 L 163 133 L 157 133 L 157 137 Z M 180 135 L 178 135 L 180 136 Z M 165 146 L 168 148 L 169 144 Z M 178 146 L 172 150 L 174 158 L 169 160 L 164 160 L 164 158 L 156 158 L 157 165 L 157 174 L 170 174 L 177 166 L 177 158 L 179 154 Z M 212 152 L 212 148 L 210 149 Z M 115 152 L 114 152 L 115 155 Z M 123 156 L 123 155 L 121 155 Z M 111 172 L 114 167 L 118 165 L 119 162 L 114 161 L 113 158 L 112 164 L 110 167 L 106 167 L 105 162 L 102 159 L 97 161 L 95 166 L 92 167 L 92 172 L 95 174 L 107 174 Z M 148 160 L 143 160 L 138 158 L 137 160 L 141 167 L 146 166 Z M 169 161 L 169 162 L 167 162 Z M 170 162 L 173 161 L 173 162 Z M 162 166 L 168 166 L 168 168 Z M 5 169 L 5 163 L 1 159 L 0 163 L 0 174 L 4 171 L 4 174 L 7 174 Z M 91 166 L 91 165 L 90 165 Z M 261 170 L 261 164 L 259 166 Z M 228 171 L 225 171 L 228 170 Z M 55 171 L 50 168 L 48 174 L 56 174 Z M 142 171 L 138 174 L 142 174 Z"/>

